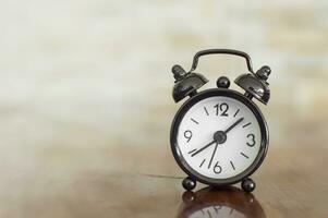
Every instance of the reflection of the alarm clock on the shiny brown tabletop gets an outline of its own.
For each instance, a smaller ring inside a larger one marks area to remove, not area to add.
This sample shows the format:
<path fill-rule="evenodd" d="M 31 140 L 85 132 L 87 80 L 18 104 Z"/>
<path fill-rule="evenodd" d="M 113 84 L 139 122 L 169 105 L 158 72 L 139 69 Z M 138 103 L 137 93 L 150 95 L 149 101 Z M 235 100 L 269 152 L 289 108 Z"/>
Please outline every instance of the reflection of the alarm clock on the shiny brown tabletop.
<path fill-rule="evenodd" d="M 182 196 L 178 218 L 263 218 L 266 217 L 260 204 L 251 193 L 236 187 L 216 190 L 206 187 Z"/>

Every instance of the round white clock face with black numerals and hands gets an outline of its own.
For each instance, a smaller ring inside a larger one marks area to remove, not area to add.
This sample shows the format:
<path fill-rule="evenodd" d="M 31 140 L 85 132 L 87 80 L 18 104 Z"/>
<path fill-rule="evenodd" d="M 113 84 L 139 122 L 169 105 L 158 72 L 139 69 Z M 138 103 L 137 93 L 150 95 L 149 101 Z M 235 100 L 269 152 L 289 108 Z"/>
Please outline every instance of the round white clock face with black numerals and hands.
<path fill-rule="evenodd" d="M 214 96 L 193 105 L 182 118 L 178 152 L 203 177 L 229 179 L 244 172 L 260 147 L 260 128 L 243 102 Z"/>

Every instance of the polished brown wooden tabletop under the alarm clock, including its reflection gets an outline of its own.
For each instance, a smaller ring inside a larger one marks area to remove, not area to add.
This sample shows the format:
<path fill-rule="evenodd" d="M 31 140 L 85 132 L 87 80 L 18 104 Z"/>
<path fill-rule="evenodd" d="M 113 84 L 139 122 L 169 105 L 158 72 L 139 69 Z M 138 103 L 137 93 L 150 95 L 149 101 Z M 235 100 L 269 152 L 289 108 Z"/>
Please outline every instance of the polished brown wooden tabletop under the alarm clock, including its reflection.
<path fill-rule="evenodd" d="M 2 180 L 1 217 L 327 217 L 328 149 L 275 147 L 252 179 L 252 194 L 239 184 L 214 190 L 181 186 L 184 173 L 168 148 L 112 147 L 104 168 L 90 159 L 72 171 L 47 166 Z M 70 162 L 66 162 L 68 165 Z M 64 167 L 64 164 L 63 164 Z M 11 172 L 12 174 L 16 172 Z"/>

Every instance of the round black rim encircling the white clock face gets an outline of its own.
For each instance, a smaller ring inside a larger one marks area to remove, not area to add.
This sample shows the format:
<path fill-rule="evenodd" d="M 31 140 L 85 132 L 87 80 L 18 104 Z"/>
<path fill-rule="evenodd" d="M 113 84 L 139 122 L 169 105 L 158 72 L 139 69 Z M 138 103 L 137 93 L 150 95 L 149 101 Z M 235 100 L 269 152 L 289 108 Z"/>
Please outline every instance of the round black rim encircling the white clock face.
<path fill-rule="evenodd" d="M 262 136 L 262 142 L 259 146 L 259 152 L 253 161 L 253 164 L 243 172 L 239 173 L 238 175 L 234 175 L 232 178 L 228 179 L 212 179 L 205 177 L 197 171 L 195 171 L 192 167 L 189 166 L 189 164 L 184 160 L 182 154 L 180 153 L 179 145 L 177 142 L 177 136 L 178 136 L 178 131 L 179 131 L 179 125 L 181 120 L 183 119 L 184 114 L 189 111 L 191 107 L 193 107 L 195 104 L 198 101 L 208 98 L 208 97 L 214 97 L 214 96 L 224 96 L 224 97 L 230 97 L 235 100 L 241 101 L 244 104 L 247 108 L 251 109 L 251 111 L 254 113 L 260 129 L 260 136 Z M 248 178 L 251 174 L 253 174 L 258 167 L 262 165 L 267 150 L 269 146 L 269 131 L 268 131 L 268 125 L 265 121 L 264 116 L 262 114 L 259 108 L 246 96 L 232 90 L 232 89 L 227 89 L 227 88 L 211 88 L 207 90 L 203 90 L 201 93 L 197 93 L 196 95 L 192 96 L 190 99 L 187 99 L 178 110 L 171 125 L 171 132 L 170 132 L 170 143 L 171 143 L 171 150 L 174 156 L 175 161 L 180 166 L 180 168 L 189 174 L 192 179 L 197 180 L 204 184 L 212 185 L 212 186 L 223 186 L 223 185 L 230 185 L 230 184 L 235 184 L 243 179 Z"/>

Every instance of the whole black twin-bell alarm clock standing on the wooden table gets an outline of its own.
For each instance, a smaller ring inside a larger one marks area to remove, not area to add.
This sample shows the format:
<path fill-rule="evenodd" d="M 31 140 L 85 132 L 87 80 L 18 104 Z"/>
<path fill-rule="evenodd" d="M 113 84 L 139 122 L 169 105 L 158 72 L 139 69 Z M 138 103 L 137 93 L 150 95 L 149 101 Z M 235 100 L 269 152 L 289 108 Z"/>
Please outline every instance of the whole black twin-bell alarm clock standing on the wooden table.
<path fill-rule="evenodd" d="M 234 81 L 245 93 L 229 89 L 226 76 L 217 80 L 217 88 L 198 92 L 208 80 L 195 70 L 206 55 L 233 55 L 246 60 L 248 73 Z M 178 110 L 171 125 L 172 154 L 187 174 L 182 181 L 193 190 L 196 181 L 211 186 L 241 182 L 245 192 L 255 189 L 250 178 L 262 165 L 269 143 L 266 120 L 252 99 L 267 105 L 270 98 L 267 83 L 270 68 L 254 72 L 251 57 L 239 50 L 208 49 L 194 56 L 189 72 L 174 65 L 172 97 L 175 102 L 190 97 Z"/>

